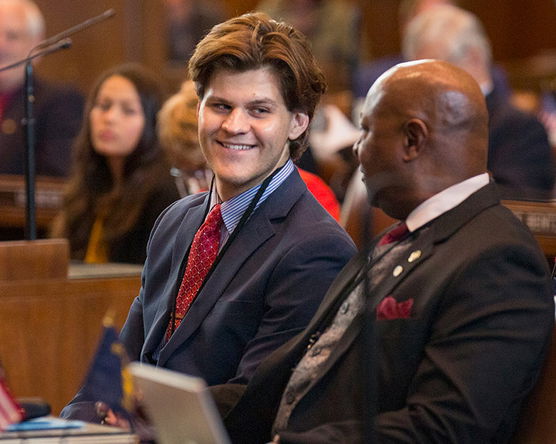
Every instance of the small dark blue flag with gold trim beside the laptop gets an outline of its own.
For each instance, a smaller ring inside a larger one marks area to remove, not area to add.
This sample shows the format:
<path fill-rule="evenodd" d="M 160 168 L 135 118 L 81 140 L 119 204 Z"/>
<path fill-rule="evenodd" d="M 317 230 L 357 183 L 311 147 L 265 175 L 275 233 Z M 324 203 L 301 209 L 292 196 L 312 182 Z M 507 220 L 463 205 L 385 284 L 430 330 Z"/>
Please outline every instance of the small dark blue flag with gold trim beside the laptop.
<path fill-rule="evenodd" d="M 103 334 L 85 378 L 86 399 L 102 401 L 114 412 L 128 415 L 133 410 L 133 382 L 126 370 L 128 358 L 113 319 L 106 316 Z"/>

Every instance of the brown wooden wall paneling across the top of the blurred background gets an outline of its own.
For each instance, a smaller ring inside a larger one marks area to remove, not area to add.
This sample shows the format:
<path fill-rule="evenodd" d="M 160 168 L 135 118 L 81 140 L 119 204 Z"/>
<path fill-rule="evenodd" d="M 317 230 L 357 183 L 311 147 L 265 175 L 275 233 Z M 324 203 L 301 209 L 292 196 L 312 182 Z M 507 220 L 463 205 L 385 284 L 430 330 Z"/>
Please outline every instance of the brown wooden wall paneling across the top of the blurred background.
<path fill-rule="evenodd" d="M 356 0 L 345 0 L 356 1 Z M 38 72 L 73 82 L 88 91 L 104 69 L 123 61 L 144 62 L 176 83 L 180 72 L 169 70 L 164 55 L 162 0 L 37 0 L 48 24 L 48 35 L 69 28 L 108 8 L 116 16 L 75 35 L 73 48 L 41 61 Z M 229 15 L 256 8 L 257 0 L 227 0 Z M 397 0 L 359 1 L 364 9 L 364 32 L 371 54 L 378 57 L 399 50 Z M 556 48 L 556 4 L 553 0 L 460 0 L 484 22 L 498 61 L 522 59 Z"/>

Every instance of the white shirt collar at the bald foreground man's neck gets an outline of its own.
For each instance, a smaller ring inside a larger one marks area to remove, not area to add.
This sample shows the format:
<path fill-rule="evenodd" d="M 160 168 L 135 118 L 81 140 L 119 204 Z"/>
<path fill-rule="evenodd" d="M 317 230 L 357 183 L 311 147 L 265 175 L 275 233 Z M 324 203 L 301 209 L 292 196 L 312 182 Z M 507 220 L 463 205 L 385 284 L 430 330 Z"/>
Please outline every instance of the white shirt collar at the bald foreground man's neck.
<path fill-rule="evenodd" d="M 488 173 L 483 173 L 435 194 L 409 213 L 405 221 L 409 231 L 415 231 L 441 214 L 455 208 L 475 191 L 488 185 L 488 183 L 489 175 Z"/>

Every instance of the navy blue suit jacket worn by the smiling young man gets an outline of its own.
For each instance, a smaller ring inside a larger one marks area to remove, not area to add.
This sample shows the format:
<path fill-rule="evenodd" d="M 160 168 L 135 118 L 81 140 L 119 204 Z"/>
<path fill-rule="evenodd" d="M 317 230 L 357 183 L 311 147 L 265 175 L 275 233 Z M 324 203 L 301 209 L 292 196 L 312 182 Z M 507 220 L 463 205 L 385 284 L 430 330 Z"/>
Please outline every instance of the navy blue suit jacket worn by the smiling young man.
<path fill-rule="evenodd" d="M 153 229 L 141 292 L 121 332 L 131 359 L 154 363 L 207 199 L 178 201 Z M 294 171 L 242 228 L 156 364 L 211 385 L 246 382 L 264 356 L 303 330 L 354 253 Z"/>

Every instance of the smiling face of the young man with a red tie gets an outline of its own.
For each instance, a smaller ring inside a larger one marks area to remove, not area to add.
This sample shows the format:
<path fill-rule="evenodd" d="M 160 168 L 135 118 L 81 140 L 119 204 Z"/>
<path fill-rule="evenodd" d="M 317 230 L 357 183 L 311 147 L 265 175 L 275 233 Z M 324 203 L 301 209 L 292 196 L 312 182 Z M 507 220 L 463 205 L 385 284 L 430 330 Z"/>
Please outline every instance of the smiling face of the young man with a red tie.
<path fill-rule="evenodd" d="M 288 111 L 270 68 L 214 73 L 199 104 L 199 141 L 220 198 L 241 194 L 282 166 L 288 139 L 308 124 L 306 114 Z"/>

